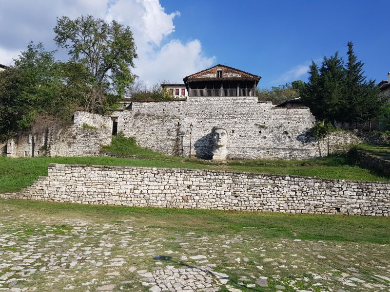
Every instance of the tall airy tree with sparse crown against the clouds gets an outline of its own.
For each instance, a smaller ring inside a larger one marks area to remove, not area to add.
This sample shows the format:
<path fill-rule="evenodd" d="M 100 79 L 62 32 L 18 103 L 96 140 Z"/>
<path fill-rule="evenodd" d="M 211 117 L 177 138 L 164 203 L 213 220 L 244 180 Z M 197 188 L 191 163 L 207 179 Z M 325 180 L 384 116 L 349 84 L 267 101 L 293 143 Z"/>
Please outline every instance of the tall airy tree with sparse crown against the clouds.
<path fill-rule="evenodd" d="M 75 20 L 57 18 L 54 28 L 56 44 L 68 50 L 72 61 L 87 68 L 88 82 L 97 91 L 110 92 L 122 98 L 134 82 L 133 60 L 137 58 L 133 33 L 129 27 L 110 23 L 91 15 Z"/>

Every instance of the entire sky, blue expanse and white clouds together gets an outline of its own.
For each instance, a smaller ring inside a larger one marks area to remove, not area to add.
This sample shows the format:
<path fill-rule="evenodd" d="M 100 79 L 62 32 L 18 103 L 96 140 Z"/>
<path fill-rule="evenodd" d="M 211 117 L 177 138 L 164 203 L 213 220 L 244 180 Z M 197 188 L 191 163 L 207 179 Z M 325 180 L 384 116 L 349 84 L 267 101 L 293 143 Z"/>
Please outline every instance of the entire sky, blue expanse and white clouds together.
<path fill-rule="evenodd" d="M 312 60 L 346 56 L 348 41 L 369 79 L 390 71 L 389 0 L 0 0 L 0 63 L 30 40 L 58 49 L 56 18 L 87 14 L 131 28 L 132 71 L 149 85 L 216 64 L 262 76 L 260 88 L 306 81 Z"/>

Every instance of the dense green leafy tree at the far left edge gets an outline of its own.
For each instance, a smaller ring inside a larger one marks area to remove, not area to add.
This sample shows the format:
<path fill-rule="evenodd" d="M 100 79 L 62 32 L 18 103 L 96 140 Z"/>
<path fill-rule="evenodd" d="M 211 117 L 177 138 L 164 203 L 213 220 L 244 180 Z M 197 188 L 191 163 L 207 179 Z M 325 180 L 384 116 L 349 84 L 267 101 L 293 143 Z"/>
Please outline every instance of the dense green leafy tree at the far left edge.
<path fill-rule="evenodd" d="M 0 141 L 30 127 L 57 98 L 54 53 L 30 42 L 15 65 L 0 73 Z"/>

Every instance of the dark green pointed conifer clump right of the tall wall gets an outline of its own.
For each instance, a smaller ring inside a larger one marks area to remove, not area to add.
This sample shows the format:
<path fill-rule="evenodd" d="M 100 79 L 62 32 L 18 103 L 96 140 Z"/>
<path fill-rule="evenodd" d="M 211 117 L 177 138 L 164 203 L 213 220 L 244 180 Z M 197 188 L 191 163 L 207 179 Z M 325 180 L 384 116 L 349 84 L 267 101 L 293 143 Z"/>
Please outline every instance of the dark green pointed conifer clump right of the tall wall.
<path fill-rule="evenodd" d="M 381 108 L 375 81 L 366 81 L 363 63 L 353 53 L 352 42 L 347 43 L 348 60 L 336 52 L 324 56 L 321 68 L 312 61 L 309 82 L 305 83 L 303 100 L 319 120 L 349 123 L 370 121 Z"/>

